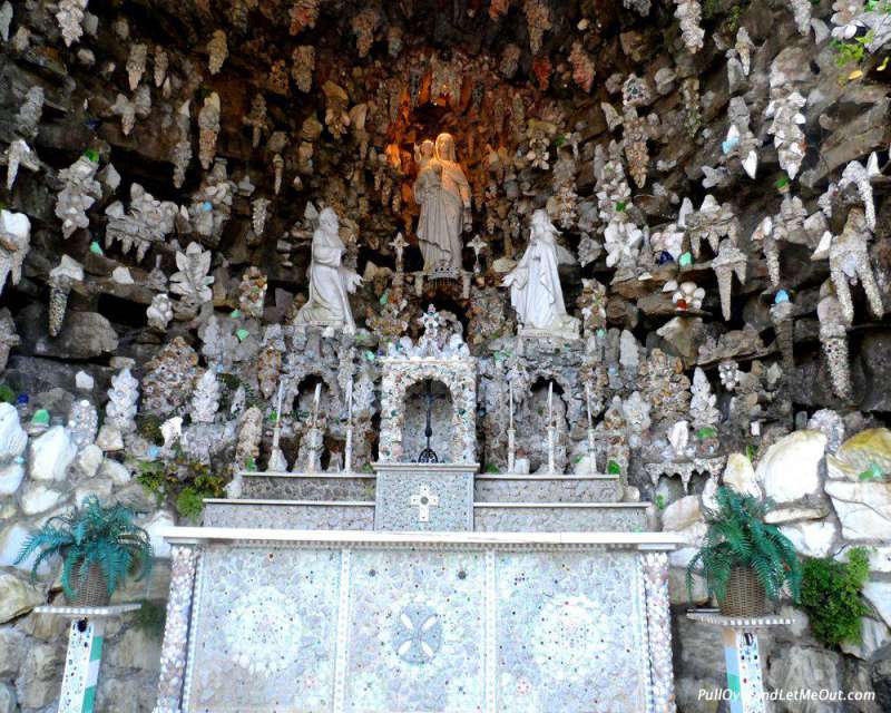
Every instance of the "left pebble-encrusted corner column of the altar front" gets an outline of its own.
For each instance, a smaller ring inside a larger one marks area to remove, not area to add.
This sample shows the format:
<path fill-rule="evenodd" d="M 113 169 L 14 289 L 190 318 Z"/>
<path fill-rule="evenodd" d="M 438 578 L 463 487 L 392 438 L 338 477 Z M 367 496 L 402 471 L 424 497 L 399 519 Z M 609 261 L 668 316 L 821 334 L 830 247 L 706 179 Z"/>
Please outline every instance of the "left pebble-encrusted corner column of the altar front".
<path fill-rule="evenodd" d="M 153 713 L 180 713 L 182 710 L 198 549 L 175 545 L 170 550 L 170 598 L 167 600 L 167 622 L 160 649 L 158 700 Z"/>

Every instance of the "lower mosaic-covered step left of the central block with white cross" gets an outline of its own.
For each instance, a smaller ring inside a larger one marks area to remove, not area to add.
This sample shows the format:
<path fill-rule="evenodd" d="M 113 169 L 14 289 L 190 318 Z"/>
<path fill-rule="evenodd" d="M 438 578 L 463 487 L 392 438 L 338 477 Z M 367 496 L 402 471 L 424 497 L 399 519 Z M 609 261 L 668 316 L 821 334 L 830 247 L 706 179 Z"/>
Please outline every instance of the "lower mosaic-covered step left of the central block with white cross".
<path fill-rule="evenodd" d="M 374 501 L 208 498 L 204 501 L 204 526 L 284 530 L 373 530 Z"/>

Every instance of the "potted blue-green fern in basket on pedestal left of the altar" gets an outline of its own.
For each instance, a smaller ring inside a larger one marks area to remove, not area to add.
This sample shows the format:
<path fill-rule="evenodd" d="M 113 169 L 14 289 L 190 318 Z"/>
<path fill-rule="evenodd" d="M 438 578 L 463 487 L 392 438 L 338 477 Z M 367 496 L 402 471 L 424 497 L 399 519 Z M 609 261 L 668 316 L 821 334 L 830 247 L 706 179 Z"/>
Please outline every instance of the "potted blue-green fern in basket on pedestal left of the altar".
<path fill-rule="evenodd" d="M 151 544 L 123 505 L 104 506 L 96 496 L 80 507 L 49 518 L 25 540 L 16 564 L 37 553 L 31 579 L 41 564 L 62 559 L 61 584 L 71 606 L 105 606 L 128 576 L 143 579 L 151 570 Z"/>

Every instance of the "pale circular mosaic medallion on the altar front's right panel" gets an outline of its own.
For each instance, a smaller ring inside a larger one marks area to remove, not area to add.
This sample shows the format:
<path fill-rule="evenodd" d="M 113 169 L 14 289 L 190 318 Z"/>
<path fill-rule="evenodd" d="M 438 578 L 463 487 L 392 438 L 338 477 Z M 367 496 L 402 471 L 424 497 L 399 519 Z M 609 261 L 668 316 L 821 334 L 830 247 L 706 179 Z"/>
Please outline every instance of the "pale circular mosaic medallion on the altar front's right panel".
<path fill-rule="evenodd" d="M 532 657 L 555 678 L 580 678 L 599 667 L 610 646 L 608 615 L 586 596 L 557 596 L 540 611 Z"/>

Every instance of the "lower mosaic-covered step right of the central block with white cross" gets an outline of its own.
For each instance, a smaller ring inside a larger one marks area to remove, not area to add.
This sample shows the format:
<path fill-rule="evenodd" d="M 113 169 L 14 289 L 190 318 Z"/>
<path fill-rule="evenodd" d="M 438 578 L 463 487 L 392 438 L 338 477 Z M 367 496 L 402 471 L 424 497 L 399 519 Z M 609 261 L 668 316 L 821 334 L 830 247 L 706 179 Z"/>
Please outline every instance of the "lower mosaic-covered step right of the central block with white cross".
<path fill-rule="evenodd" d="M 477 533 L 638 533 L 652 529 L 649 502 L 478 502 Z"/>

